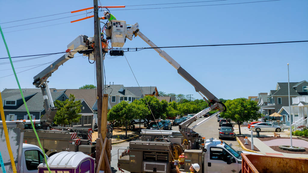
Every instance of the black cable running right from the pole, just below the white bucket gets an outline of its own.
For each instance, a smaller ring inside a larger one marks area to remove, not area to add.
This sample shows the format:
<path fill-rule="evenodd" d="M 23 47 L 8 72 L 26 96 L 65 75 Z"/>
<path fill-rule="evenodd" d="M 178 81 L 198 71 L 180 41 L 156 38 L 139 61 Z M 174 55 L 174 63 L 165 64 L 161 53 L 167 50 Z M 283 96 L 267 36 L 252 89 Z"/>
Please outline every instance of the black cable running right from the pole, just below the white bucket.
<path fill-rule="evenodd" d="M 261 42 L 261 43 L 241 43 L 241 44 L 212 44 L 212 45 L 193 45 L 193 46 L 164 46 L 164 47 L 135 47 L 135 48 L 121 48 L 121 49 L 131 49 L 131 51 L 138 51 L 144 49 L 156 49 L 156 48 L 177 48 L 177 47 L 205 47 L 205 46 L 239 46 L 239 45 L 256 45 L 256 44 L 278 44 L 278 43 L 296 43 L 296 42 L 308 42 L 304 41 L 289 41 L 289 42 Z M 128 52 L 126 51 L 126 52 Z"/>

